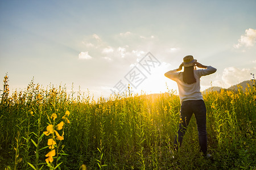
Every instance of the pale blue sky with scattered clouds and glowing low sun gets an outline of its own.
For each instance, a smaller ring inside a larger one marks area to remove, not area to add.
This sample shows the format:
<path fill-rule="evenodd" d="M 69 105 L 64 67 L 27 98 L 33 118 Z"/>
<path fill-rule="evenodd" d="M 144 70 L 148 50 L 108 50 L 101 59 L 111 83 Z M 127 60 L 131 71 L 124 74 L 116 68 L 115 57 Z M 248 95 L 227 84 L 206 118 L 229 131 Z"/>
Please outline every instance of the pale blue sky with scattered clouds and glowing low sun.
<path fill-rule="evenodd" d="M 177 91 L 164 76 L 192 55 L 217 72 L 201 91 L 256 74 L 256 1 L 0 1 L 0 78 L 108 97 Z M 167 88 L 168 87 L 168 88 Z M 0 90 L 3 86 L 0 86 Z"/>

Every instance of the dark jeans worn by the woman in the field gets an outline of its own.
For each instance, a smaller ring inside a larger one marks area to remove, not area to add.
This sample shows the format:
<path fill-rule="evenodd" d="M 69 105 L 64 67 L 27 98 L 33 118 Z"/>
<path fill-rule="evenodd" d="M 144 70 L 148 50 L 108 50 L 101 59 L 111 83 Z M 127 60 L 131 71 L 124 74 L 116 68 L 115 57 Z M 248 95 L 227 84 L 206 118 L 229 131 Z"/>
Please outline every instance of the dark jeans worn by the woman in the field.
<path fill-rule="evenodd" d="M 178 148 L 178 143 L 179 146 L 181 146 L 183 136 L 187 130 L 191 116 L 194 113 L 199 135 L 200 151 L 207 154 L 206 112 L 204 100 L 187 100 L 181 103 L 180 124 L 179 130 L 177 131 L 178 137 L 176 135 L 174 141 L 175 150 Z"/>

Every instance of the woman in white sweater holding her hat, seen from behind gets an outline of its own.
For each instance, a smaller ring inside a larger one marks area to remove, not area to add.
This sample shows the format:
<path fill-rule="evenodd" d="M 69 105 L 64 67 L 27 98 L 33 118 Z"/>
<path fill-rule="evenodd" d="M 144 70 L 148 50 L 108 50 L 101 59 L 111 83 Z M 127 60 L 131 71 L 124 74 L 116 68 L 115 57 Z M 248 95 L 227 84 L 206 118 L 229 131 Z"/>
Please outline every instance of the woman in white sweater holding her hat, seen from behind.
<path fill-rule="evenodd" d="M 184 72 L 181 71 L 184 66 Z M 201 68 L 196 70 L 196 66 Z M 216 69 L 212 66 L 204 66 L 197 62 L 193 56 L 185 56 L 183 63 L 179 66 L 179 69 L 168 71 L 165 76 L 174 80 L 177 83 L 179 89 L 179 96 L 181 102 L 180 108 L 180 124 L 179 130 L 174 141 L 174 148 L 177 150 L 178 146 L 181 146 L 181 142 L 192 114 L 195 114 L 197 131 L 199 135 L 200 151 L 204 156 L 210 156 L 207 154 L 207 130 L 206 130 L 206 108 L 203 100 L 203 96 L 200 92 L 200 77 L 204 75 L 213 74 Z M 179 143 L 179 145 L 178 145 Z"/>

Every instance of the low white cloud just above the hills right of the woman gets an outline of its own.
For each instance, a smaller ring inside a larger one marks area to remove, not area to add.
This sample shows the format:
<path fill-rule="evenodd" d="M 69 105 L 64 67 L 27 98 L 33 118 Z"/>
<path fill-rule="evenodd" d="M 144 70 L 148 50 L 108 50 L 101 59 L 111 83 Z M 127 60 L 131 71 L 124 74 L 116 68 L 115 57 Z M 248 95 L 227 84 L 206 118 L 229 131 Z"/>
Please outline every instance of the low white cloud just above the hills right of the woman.
<path fill-rule="evenodd" d="M 251 79 L 251 73 L 255 73 L 256 69 L 239 69 L 236 67 L 225 68 L 222 74 L 222 80 L 227 86 L 232 86 Z"/>

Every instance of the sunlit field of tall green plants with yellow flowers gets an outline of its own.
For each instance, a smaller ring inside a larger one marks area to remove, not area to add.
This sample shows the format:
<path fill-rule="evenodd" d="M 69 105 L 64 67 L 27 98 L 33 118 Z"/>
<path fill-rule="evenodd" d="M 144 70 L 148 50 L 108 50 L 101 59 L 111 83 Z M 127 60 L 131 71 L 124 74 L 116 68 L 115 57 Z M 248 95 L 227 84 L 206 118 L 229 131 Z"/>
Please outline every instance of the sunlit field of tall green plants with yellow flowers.
<path fill-rule="evenodd" d="M 180 100 L 172 90 L 106 101 L 33 81 L 10 94 L 7 76 L 3 84 L 0 169 L 256 169 L 253 86 L 204 94 L 207 159 L 195 117 L 173 150 Z"/>

